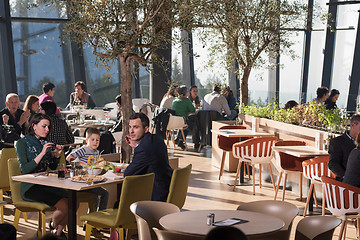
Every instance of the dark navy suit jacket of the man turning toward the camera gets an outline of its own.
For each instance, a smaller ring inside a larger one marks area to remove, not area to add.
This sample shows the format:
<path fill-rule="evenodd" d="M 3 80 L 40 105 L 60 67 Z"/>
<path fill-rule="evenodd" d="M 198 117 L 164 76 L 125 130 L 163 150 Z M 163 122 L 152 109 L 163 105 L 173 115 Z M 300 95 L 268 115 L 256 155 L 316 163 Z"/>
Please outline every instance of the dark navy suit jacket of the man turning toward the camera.
<path fill-rule="evenodd" d="M 134 149 L 134 157 L 126 168 L 124 176 L 147 173 L 155 173 L 151 199 L 165 202 L 169 193 L 172 169 L 169 166 L 164 140 L 150 133 L 146 133 L 139 145 Z"/>

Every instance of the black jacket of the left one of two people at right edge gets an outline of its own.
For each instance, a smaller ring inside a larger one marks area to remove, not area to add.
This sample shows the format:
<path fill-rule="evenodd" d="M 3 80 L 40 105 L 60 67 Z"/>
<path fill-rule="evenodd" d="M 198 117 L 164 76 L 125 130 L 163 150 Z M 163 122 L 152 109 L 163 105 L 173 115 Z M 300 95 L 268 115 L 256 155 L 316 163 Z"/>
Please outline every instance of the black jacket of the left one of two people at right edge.
<path fill-rule="evenodd" d="M 355 143 L 346 133 L 330 140 L 329 145 L 329 169 L 341 179 L 346 170 L 350 152 L 355 148 Z"/>

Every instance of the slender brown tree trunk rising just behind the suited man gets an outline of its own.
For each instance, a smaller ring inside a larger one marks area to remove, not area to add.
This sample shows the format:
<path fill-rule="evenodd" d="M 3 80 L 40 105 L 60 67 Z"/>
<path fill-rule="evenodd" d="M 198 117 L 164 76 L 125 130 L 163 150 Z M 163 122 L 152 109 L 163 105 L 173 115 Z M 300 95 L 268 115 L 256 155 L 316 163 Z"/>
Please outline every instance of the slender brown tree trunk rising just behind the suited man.
<path fill-rule="evenodd" d="M 122 160 L 130 162 L 131 147 L 125 141 L 125 136 L 129 134 L 129 118 L 132 114 L 132 76 L 131 76 L 131 59 L 125 56 L 120 56 L 121 67 L 121 114 L 123 118 L 123 138 L 121 141 Z"/>

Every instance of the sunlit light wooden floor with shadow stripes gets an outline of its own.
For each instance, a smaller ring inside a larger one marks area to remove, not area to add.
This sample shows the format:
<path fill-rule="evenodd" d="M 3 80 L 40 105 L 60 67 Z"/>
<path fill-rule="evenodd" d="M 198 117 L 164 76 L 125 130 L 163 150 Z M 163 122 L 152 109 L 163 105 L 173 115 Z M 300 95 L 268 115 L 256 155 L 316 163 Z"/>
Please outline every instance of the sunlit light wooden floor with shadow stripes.
<path fill-rule="evenodd" d="M 182 151 L 180 148 L 175 150 L 170 143 L 169 155 L 179 157 L 180 167 L 185 167 L 188 164 L 193 164 L 191 174 L 188 196 L 184 209 L 236 209 L 238 205 L 257 201 L 273 199 L 274 190 L 271 183 L 263 184 L 260 189 L 256 187 L 256 195 L 252 195 L 252 185 L 237 187 L 236 191 L 232 191 L 232 187 L 228 183 L 233 184 L 234 173 L 225 172 L 221 181 L 218 180 L 219 169 L 211 164 L 211 148 L 203 149 L 201 153 L 193 151 L 193 147 L 189 144 L 188 151 Z M 306 193 L 304 193 L 305 195 Z M 10 199 L 7 199 L 10 202 Z M 286 201 L 289 201 L 299 208 L 305 206 L 305 202 L 300 202 L 298 196 L 294 193 L 287 193 Z M 48 221 L 51 219 L 51 214 L 47 215 Z M 293 224 L 293 230 L 290 239 L 294 239 L 294 232 L 297 222 L 302 219 L 302 216 L 297 216 Z M 5 222 L 13 222 L 13 206 L 8 204 L 5 206 Z M 23 218 L 20 219 L 18 228 L 18 239 L 36 239 L 37 215 L 29 213 L 29 222 L 25 222 Z M 338 227 L 335 230 L 334 238 L 337 239 Z M 104 234 L 104 239 L 108 238 L 108 234 Z M 78 239 L 84 239 L 84 231 L 78 228 Z M 356 230 L 353 224 L 348 224 L 347 238 L 356 239 Z"/>

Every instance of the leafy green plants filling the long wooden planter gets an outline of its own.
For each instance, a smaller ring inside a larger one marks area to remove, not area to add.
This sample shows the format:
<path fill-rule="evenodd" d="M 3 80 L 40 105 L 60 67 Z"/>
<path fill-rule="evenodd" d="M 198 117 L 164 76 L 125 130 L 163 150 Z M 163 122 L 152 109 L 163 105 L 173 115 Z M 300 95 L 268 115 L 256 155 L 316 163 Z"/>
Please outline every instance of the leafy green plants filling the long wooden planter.
<path fill-rule="evenodd" d="M 314 102 L 292 109 L 280 108 L 277 104 L 268 104 L 265 107 L 243 105 L 240 113 L 289 124 L 320 127 L 332 132 L 342 132 L 347 125 L 347 118 L 339 109 L 327 110 L 325 106 Z"/>

